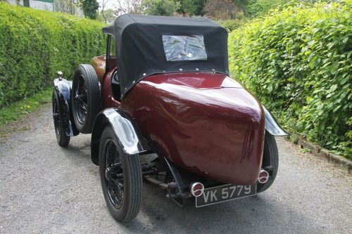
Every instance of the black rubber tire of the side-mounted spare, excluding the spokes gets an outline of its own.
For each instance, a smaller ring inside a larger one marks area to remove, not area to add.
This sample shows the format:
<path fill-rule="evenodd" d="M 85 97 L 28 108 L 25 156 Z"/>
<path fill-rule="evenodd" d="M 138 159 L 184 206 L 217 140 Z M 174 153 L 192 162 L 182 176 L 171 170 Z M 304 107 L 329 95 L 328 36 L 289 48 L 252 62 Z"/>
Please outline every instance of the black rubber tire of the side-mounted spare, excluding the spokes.
<path fill-rule="evenodd" d="M 77 86 L 78 79 L 82 75 L 84 82 L 86 84 L 87 89 L 87 117 L 83 124 L 81 124 L 76 115 L 75 110 L 75 90 Z M 96 115 L 101 110 L 101 94 L 99 88 L 98 77 L 96 77 L 96 72 L 92 65 L 81 64 L 75 70 L 75 74 L 73 76 L 73 84 L 72 84 L 72 109 L 73 109 L 73 120 L 77 127 L 77 130 L 80 131 L 81 134 L 91 134 L 94 120 Z"/>

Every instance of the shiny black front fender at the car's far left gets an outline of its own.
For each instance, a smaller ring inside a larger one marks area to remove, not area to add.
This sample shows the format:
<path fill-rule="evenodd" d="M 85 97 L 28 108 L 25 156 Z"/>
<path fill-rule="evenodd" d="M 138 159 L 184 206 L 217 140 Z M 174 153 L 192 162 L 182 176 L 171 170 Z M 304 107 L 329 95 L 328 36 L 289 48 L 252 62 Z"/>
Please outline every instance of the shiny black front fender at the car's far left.
<path fill-rule="evenodd" d="M 77 136 L 80 132 L 73 122 L 73 112 L 71 106 L 71 88 L 72 82 L 66 79 L 54 79 L 54 91 L 58 96 L 58 102 L 63 110 L 63 119 L 65 124 L 65 132 L 67 136 Z"/>

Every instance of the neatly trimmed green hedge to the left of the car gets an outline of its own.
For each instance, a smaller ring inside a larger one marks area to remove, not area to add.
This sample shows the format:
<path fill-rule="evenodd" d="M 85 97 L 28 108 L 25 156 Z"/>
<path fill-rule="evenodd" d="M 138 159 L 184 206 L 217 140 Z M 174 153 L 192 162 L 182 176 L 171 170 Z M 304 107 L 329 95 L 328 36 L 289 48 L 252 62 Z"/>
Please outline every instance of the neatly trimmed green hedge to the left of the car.
<path fill-rule="evenodd" d="M 0 108 L 52 84 L 62 70 L 103 53 L 103 24 L 0 2 Z"/>

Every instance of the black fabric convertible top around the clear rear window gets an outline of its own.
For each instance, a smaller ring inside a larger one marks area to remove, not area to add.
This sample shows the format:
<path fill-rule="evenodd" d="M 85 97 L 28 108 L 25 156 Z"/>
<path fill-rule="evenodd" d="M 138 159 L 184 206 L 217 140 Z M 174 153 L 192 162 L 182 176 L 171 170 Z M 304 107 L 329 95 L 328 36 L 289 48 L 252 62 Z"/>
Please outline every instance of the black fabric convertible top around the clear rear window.
<path fill-rule="evenodd" d="M 115 38 L 121 98 L 134 84 L 150 74 L 170 72 L 228 74 L 227 31 L 208 18 L 125 14 L 116 18 L 113 25 L 103 27 L 103 33 L 112 34 Z M 164 50 L 168 41 L 164 40 L 169 39 L 172 46 L 173 36 L 180 38 L 189 36 L 197 39 L 201 37 L 206 57 L 203 54 L 200 59 L 169 60 L 166 49 Z"/>

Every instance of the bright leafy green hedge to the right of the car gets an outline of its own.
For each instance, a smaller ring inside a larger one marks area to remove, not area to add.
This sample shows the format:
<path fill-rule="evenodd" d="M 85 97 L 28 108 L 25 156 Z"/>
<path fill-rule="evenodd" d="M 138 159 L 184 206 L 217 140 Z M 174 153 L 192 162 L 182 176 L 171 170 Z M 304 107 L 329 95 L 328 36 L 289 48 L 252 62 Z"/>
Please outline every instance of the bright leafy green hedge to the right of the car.
<path fill-rule="evenodd" d="M 230 71 L 289 131 L 352 159 L 352 1 L 287 6 L 230 34 Z"/>

